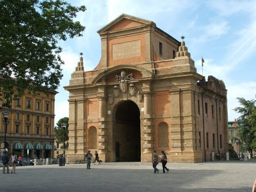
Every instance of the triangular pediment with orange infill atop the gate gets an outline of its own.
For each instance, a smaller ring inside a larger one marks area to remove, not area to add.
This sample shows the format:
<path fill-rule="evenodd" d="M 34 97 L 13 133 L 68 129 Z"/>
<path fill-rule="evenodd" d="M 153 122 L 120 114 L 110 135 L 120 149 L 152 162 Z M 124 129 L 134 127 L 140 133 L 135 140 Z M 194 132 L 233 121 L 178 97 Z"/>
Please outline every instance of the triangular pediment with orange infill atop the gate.
<path fill-rule="evenodd" d="M 126 14 L 122 14 L 118 16 L 115 20 L 108 23 L 105 27 L 102 27 L 98 33 L 109 32 L 109 31 L 117 31 L 123 30 L 133 27 L 145 26 L 155 24 L 153 21 L 141 19 L 135 16 L 129 16 Z"/>

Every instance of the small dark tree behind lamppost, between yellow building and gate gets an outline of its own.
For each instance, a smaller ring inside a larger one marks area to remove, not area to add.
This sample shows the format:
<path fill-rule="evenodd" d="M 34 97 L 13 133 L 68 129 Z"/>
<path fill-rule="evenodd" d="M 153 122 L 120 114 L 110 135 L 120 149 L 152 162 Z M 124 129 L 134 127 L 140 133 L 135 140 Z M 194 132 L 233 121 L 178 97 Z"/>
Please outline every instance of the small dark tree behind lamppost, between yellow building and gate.
<path fill-rule="evenodd" d="M 65 132 L 64 132 L 62 123 L 67 123 Z M 63 118 L 59 119 L 59 121 L 56 123 L 57 127 L 54 128 L 54 132 L 56 133 L 56 139 L 59 144 L 63 144 L 63 132 L 64 132 L 64 136 L 65 136 L 65 142 L 69 140 L 69 130 L 68 130 L 69 124 L 68 123 L 69 123 L 69 117 L 63 117 Z"/>

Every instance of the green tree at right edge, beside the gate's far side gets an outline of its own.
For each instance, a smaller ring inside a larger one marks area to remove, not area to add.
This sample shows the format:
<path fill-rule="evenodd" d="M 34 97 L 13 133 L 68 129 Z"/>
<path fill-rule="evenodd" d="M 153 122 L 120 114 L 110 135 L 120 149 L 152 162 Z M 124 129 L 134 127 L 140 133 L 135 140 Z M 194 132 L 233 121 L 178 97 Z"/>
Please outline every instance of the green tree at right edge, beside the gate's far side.
<path fill-rule="evenodd" d="M 236 107 L 235 112 L 240 113 L 237 122 L 239 123 L 238 136 L 240 137 L 243 147 L 252 155 L 254 148 L 254 141 L 256 136 L 256 129 L 252 124 L 252 118 L 256 111 L 256 100 L 246 101 L 244 98 L 237 97 L 242 107 Z"/>

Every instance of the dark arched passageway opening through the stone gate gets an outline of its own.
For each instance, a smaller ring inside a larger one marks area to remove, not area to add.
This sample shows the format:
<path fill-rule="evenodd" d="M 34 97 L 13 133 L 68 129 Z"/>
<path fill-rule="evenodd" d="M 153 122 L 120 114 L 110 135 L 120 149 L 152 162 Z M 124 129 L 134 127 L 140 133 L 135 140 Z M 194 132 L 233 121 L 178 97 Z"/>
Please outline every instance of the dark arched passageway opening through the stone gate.
<path fill-rule="evenodd" d="M 123 101 L 113 119 L 116 161 L 140 161 L 140 111 L 133 101 Z"/>

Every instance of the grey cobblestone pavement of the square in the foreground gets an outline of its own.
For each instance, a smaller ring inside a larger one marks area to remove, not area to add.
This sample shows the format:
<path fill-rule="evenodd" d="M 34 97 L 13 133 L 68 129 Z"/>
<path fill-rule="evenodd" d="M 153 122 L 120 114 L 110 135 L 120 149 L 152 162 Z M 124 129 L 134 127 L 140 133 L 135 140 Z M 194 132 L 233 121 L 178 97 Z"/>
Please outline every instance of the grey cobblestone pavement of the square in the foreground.
<path fill-rule="evenodd" d="M 91 164 L 91 170 L 86 164 L 24 166 L 5 175 L 0 168 L 0 191 L 250 192 L 256 176 L 252 161 L 167 163 L 165 174 L 161 166 L 158 174 L 151 163 L 140 162 Z"/>

